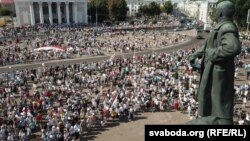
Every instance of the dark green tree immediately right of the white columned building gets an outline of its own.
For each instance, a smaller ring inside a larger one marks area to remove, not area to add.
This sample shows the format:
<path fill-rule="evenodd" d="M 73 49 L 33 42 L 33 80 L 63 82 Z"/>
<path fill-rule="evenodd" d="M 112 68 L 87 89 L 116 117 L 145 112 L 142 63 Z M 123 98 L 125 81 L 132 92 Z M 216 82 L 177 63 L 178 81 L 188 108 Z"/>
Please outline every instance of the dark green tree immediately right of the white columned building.
<path fill-rule="evenodd" d="M 106 0 L 91 0 L 88 4 L 88 15 L 91 16 L 92 22 L 103 22 L 108 19 L 108 8 Z"/>

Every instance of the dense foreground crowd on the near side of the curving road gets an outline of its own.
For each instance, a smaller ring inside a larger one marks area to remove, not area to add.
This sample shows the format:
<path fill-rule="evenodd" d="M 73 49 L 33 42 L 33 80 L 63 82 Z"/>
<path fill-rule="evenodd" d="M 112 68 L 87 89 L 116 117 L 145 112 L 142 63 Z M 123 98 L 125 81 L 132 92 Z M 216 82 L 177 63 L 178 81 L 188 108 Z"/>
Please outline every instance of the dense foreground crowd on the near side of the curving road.
<path fill-rule="evenodd" d="M 195 118 L 199 74 L 187 61 L 194 50 L 3 73 L 1 139 L 41 132 L 44 141 L 77 140 L 110 120 L 135 120 L 138 112 L 179 110 Z M 249 99 L 246 85 L 236 86 L 238 100 Z M 249 124 L 248 112 L 235 107 L 235 116 Z"/>

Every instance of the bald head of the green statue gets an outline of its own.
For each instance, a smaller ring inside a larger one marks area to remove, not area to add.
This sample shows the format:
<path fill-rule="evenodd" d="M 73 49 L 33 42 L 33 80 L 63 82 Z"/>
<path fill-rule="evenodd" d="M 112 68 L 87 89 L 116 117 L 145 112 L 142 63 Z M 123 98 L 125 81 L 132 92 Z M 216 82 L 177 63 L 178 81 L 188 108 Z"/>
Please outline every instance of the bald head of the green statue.
<path fill-rule="evenodd" d="M 219 22 L 225 18 L 233 20 L 234 13 L 234 4 L 230 1 L 222 1 L 216 8 L 216 21 Z"/>

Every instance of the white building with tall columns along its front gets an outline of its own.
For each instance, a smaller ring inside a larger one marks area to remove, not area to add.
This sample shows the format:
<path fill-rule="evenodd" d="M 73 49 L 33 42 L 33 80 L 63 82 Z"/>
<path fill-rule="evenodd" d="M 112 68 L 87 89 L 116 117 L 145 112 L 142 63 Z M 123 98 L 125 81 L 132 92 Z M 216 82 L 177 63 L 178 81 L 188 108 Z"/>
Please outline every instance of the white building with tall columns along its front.
<path fill-rule="evenodd" d="M 88 23 L 87 0 L 14 0 L 17 24 Z"/>

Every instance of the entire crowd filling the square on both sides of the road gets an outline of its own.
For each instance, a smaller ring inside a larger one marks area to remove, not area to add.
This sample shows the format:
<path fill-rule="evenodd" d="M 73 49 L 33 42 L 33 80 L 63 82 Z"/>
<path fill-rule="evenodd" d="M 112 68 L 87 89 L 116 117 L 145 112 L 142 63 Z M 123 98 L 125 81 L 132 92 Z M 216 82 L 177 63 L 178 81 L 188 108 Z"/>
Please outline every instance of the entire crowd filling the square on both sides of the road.
<path fill-rule="evenodd" d="M 134 25 L 136 28 L 143 26 L 146 25 Z M 84 54 L 135 52 L 188 40 L 186 35 L 169 33 L 165 29 L 114 30 L 120 27 L 130 28 L 130 25 L 121 23 L 113 29 L 103 27 L 102 32 L 95 32 L 93 27 L 86 25 L 5 29 L 1 31 L 4 38 L 0 42 L 0 65 Z M 9 38 L 20 34 L 35 36 Z M 248 42 L 242 44 L 247 46 Z M 54 45 L 67 49 L 64 52 L 33 51 Z M 136 120 L 140 112 L 180 111 L 196 118 L 199 104 L 199 73 L 196 69 L 200 60 L 192 66 L 187 59 L 195 50 L 152 51 L 148 55 L 2 73 L 0 140 L 80 140 L 94 127 L 106 126 L 108 122 L 130 122 Z M 236 79 L 242 68 L 248 76 L 247 57 L 248 51 L 244 49 L 235 59 Z M 242 107 L 235 104 L 234 108 L 239 125 L 250 124 L 249 112 L 244 110 L 250 99 L 249 88 L 248 83 L 235 85 L 236 103 L 243 103 Z"/>

